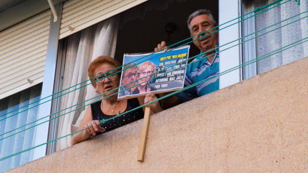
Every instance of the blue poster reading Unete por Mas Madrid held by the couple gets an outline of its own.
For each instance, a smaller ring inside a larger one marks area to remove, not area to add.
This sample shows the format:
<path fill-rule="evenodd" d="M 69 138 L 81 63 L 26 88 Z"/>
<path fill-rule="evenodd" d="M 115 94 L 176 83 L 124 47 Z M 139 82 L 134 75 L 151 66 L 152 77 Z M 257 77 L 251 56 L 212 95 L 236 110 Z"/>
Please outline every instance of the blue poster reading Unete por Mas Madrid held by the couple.
<path fill-rule="evenodd" d="M 184 87 L 190 46 L 154 54 L 124 54 L 118 100 Z M 144 58 L 143 58 L 144 57 Z"/>

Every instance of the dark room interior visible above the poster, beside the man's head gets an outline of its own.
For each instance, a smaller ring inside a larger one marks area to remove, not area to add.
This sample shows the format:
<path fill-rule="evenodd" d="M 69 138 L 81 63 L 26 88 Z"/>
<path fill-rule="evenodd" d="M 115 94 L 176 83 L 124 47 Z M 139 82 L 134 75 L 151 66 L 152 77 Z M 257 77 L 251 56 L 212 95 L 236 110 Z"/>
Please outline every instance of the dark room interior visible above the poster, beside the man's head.
<path fill-rule="evenodd" d="M 218 0 L 150 0 L 120 14 L 115 59 L 123 62 L 124 53 L 152 52 L 161 41 L 167 45 L 190 37 L 186 20 L 199 9 L 208 9 L 218 21 Z M 165 26 L 176 26 L 172 34 Z M 189 57 L 200 50 L 191 43 Z"/>

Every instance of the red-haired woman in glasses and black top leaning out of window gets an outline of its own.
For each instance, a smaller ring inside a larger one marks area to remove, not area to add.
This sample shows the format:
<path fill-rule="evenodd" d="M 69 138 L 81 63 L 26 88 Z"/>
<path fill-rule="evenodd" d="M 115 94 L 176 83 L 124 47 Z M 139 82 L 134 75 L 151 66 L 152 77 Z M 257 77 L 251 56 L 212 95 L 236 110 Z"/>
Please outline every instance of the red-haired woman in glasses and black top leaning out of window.
<path fill-rule="evenodd" d="M 104 74 L 107 71 L 113 70 L 119 66 L 120 63 L 117 62 L 115 59 L 107 56 L 100 56 L 96 58 L 93 62 L 91 62 L 91 64 L 89 65 L 89 78 L 94 78 L 95 76 Z M 117 90 L 111 90 L 119 87 L 120 77 L 119 74 L 114 74 L 113 72 L 116 71 L 111 71 L 108 74 L 99 76 L 91 80 L 91 82 L 93 82 L 92 86 L 94 87 L 95 91 L 98 94 L 102 94 L 103 97 L 110 96 L 117 92 Z M 117 95 L 113 95 L 109 98 L 92 103 L 91 106 L 87 108 L 83 121 L 78 128 L 78 130 L 81 130 L 83 128 L 86 128 L 86 130 L 74 134 L 71 138 L 71 144 L 74 145 L 76 143 L 89 139 L 91 135 L 99 135 L 103 132 L 111 131 L 115 128 L 121 127 L 125 124 L 143 118 L 144 110 L 137 109 L 135 111 L 131 111 L 125 114 L 125 116 L 123 115 L 118 118 L 107 121 L 103 124 L 100 124 L 100 121 L 102 119 L 110 119 L 114 117 L 118 112 L 123 113 L 132 110 L 140 105 L 143 105 L 144 103 L 149 103 L 155 99 L 157 99 L 155 95 L 148 94 L 145 97 L 138 99 L 119 101 L 117 100 Z M 151 107 L 151 110 L 154 113 L 162 111 L 158 102 L 152 103 L 148 106 Z"/>

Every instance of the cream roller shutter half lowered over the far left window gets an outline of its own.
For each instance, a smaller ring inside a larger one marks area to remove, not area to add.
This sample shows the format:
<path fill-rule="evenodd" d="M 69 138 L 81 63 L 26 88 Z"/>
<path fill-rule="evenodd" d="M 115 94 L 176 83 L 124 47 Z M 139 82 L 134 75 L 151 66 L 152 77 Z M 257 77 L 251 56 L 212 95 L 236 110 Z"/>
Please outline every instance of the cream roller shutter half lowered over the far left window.
<path fill-rule="evenodd" d="M 47 10 L 0 32 L 0 99 L 43 81 L 50 20 Z"/>

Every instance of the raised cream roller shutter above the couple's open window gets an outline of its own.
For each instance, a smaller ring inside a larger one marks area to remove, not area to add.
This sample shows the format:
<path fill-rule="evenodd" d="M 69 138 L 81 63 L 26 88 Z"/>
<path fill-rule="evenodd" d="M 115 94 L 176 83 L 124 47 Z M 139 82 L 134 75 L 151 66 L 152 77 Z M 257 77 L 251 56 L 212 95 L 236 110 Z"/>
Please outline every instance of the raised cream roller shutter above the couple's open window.
<path fill-rule="evenodd" d="M 63 4 L 60 39 L 147 0 L 70 0 Z"/>

